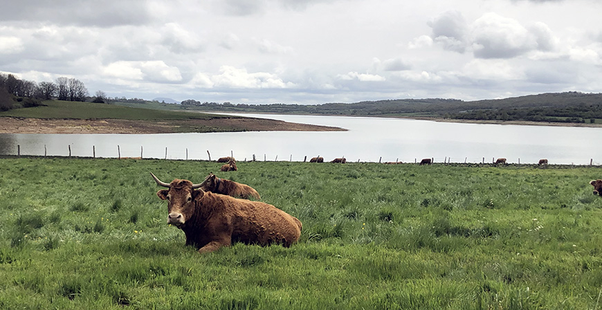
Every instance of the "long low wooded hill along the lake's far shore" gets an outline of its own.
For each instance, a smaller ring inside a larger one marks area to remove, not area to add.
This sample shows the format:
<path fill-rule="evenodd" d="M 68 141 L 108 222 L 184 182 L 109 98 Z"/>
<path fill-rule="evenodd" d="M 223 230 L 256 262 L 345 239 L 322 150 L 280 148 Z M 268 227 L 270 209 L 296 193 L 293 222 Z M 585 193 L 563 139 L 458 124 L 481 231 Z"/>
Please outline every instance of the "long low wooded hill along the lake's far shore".
<path fill-rule="evenodd" d="M 424 117 L 468 120 L 529 120 L 602 123 L 601 93 L 542 93 L 516 98 L 463 101 L 455 99 L 394 99 L 354 103 L 218 104 L 185 100 L 180 109 L 199 111 L 287 113 L 341 116 Z"/>

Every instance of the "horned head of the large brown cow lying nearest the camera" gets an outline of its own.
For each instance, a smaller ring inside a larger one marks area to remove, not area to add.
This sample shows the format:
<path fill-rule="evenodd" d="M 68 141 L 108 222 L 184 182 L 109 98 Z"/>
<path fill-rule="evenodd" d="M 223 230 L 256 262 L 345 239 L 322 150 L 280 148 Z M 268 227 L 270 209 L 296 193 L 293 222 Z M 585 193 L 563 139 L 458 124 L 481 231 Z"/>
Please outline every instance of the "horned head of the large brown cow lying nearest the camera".
<path fill-rule="evenodd" d="M 201 187 L 201 184 L 192 184 L 188 180 L 174 179 L 172 183 L 165 183 L 152 174 L 157 185 L 161 185 L 168 190 L 159 190 L 157 196 L 167 200 L 167 224 L 178 227 L 183 226 L 194 212 L 194 199 L 203 197 L 202 190 L 195 190 Z"/>

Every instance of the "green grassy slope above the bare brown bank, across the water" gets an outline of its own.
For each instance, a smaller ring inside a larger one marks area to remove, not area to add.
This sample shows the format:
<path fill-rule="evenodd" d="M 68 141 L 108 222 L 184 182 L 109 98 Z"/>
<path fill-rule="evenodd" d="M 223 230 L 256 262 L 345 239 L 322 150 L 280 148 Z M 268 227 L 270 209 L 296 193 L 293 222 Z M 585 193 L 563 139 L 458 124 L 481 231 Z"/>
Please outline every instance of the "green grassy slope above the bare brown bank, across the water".
<path fill-rule="evenodd" d="M 93 102 L 48 100 L 44 101 L 44 104 L 45 106 L 42 107 L 14 109 L 0 112 L 0 116 L 73 119 L 118 118 L 124 120 L 190 120 L 224 117 L 206 113 L 143 109 Z"/>

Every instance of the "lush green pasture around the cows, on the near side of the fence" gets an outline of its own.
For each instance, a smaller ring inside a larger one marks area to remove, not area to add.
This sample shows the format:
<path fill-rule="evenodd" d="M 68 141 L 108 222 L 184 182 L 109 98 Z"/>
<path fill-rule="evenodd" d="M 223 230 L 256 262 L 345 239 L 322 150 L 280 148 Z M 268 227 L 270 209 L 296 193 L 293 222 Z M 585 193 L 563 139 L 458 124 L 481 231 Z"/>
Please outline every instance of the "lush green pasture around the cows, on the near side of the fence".
<path fill-rule="evenodd" d="M 0 158 L 0 309 L 601 309 L 601 167 Z M 291 248 L 199 255 L 163 181 L 246 183 Z"/>

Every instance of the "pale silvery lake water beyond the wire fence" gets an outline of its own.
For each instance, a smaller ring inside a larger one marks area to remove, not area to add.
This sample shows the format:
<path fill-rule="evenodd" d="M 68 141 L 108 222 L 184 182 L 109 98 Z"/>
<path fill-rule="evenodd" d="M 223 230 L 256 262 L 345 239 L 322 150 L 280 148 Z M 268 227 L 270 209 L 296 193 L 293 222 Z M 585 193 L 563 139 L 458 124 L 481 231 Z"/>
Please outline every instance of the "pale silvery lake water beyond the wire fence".
<path fill-rule="evenodd" d="M 403 161 L 434 158 L 455 163 L 602 164 L 602 128 L 486 125 L 399 118 L 237 114 L 287 122 L 343 127 L 349 131 L 247 131 L 208 134 L 0 134 L 0 155 L 138 157 L 238 161 Z M 93 154 L 95 149 L 95 154 Z M 166 152 L 167 149 L 167 152 Z M 166 155 L 167 153 L 167 155 Z"/>

